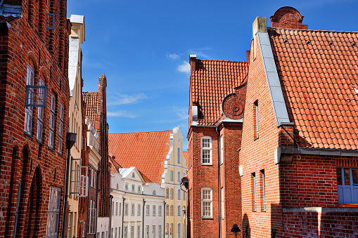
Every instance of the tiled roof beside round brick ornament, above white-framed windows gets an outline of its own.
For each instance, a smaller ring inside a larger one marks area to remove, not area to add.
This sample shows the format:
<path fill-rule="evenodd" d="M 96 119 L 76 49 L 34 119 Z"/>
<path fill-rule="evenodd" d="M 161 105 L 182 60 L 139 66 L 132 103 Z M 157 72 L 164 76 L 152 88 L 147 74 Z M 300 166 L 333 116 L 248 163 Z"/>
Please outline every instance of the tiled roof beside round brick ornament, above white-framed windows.
<path fill-rule="evenodd" d="M 198 124 L 215 125 L 223 119 L 222 100 L 246 81 L 247 62 L 196 60 L 191 72 L 191 102 L 197 103 Z"/>

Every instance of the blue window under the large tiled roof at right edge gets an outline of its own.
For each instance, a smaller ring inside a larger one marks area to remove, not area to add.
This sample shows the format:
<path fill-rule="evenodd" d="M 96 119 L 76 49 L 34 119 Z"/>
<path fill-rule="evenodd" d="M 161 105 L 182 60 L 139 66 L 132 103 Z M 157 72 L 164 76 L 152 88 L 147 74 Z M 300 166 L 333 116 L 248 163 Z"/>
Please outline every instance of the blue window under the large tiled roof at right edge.
<path fill-rule="evenodd" d="M 338 204 L 358 204 L 358 168 L 337 168 Z"/>

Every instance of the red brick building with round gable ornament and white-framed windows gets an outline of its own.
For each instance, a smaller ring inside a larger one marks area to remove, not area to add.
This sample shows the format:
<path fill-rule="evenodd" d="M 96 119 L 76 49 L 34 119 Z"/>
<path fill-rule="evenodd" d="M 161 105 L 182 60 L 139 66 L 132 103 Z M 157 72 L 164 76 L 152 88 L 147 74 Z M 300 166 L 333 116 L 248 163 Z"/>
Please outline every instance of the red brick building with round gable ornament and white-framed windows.
<path fill-rule="evenodd" d="M 226 237 L 241 220 L 241 147 L 247 62 L 191 55 L 187 237 Z"/>

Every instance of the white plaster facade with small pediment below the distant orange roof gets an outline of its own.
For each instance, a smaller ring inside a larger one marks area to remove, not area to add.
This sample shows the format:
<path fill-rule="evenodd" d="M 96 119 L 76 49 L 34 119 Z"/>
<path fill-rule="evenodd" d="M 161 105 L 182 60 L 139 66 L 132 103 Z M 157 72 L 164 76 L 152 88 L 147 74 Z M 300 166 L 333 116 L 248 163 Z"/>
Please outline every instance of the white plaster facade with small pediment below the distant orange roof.
<path fill-rule="evenodd" d="M 135 167 L 117 170 L 111 177 L 111 237 L 163 237 L 164 188 L 146 183 Z"/>

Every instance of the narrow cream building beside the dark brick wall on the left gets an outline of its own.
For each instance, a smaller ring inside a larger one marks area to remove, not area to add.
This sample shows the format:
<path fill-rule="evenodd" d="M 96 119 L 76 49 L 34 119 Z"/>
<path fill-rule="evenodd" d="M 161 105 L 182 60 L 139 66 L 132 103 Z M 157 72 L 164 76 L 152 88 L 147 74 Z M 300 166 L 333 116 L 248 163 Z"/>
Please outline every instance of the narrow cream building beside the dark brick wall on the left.
<path fill-rule="evenodd" d="M 68 237 L 77 237 L 78 216 L 79 216 L 79 183 L 81 176 L 81 150 L 82 150 L 82 51 L 81 44 L 84 42 L 84 16 L 71 15 L 72 23 L 68 80 L 70 84 L 70 132 L 77 134 L 77 140 L 71 148 L 71 174 L 70 174 L 70 195 L 68 198 Z M 84 194 L 82 194 L 84 195 Z"/>

